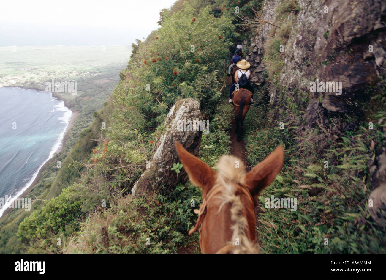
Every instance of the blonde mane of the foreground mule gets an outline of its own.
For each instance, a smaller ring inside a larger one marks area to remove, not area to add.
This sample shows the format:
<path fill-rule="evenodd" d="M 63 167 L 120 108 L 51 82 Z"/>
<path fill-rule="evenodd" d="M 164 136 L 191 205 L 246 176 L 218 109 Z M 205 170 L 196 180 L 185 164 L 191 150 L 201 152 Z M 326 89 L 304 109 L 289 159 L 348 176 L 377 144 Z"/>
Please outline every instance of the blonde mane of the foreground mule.
<path fill-rule="evenodd" d="M 258 246 L 254 244 L 245 231 L 248 228 L 247 218 L 242 215 L 244 205 L 239 196 L 235 195 L 237 188 L 234 184 L 245 185 L 246 170 L 244 163 L 235 156 L 222 156 L 217 163 L 217 179 L 213 188 L 222 186 L 223 190 L 216 196 L 220 200 L 220 207 L 230 203 L 230 214 L 233 224 L 230 229 L 233 231 L 232 240 L 227 244 L 229 253 L 258 253 Z M 239 239 L 239 245 L 236 245 L 236 238 Z"/>

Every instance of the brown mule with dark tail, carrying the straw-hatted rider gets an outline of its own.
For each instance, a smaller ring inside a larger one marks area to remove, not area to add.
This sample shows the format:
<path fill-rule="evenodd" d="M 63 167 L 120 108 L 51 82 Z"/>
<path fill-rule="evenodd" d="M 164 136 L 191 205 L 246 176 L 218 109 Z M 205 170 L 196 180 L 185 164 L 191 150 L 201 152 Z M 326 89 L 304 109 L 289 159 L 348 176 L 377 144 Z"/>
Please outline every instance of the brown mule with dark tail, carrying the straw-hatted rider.
<path fill-rule="evenodd" d="M 240 141 L 241 127 L 244 122 L 245 115 L 249 110 L 249 106 L 252 103 L 252 93 L 249 90 L 240 88 L 239 91 L 235 91 L 233 93 L 232 101 L 233 101 L 234 111 L 235 111 L 237 141 Z"/>

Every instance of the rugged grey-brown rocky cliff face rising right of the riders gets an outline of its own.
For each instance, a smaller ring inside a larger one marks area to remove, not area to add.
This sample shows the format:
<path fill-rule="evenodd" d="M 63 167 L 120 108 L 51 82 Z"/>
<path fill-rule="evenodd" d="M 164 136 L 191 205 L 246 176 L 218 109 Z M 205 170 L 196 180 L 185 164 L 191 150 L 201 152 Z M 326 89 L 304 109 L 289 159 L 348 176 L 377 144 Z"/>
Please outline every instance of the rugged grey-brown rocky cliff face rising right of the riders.
<path fill-rule="evenodd" d="M 256 36 L 245 43 L 250 45 L 247 60 L 251 63 L 251 81 L 255 86 L 267 85 L 271 103 L 276 102 L 279 92 L 295 103 L 298 92 L 308 95 L 303 115 L 307 129 L 317 120 L 326 124 L 327 112 L 337 117 L 343 113 L 365 114 L 369 88 L 386 77 L 385 1 L 266 0 L 261 18 L 277 26 L 260 25 L 255 29 Z M 264 71 L 272 63 L 264 56 L 268 57 L 269 44 L 276 38 L 283 45 L 279 46 L 281 51 L 276 46 L 282 67 L 275 80 Z M 341 92 L 311 91 L 310 83 L 318 81 L 338 82 L 335 85 L 341 85 Z M 380 125 L 386 120 L 373 121 Z M 374 209 L 386 209 L 385 145 L 386 141 L 375 161 L 369 159 Z M 374 209 L 370 209 L 374 219 L 386 224 L 385 217 L 379 213 L 377 217 Z"/>

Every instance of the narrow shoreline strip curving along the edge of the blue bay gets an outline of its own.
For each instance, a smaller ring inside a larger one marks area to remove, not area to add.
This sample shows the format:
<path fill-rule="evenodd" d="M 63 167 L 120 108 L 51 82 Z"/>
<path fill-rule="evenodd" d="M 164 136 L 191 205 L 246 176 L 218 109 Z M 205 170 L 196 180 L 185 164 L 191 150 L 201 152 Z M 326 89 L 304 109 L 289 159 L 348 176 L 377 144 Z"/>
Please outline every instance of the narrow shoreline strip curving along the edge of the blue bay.
<path fill-rule="evenodd" d="M 24 88 L 24 87 L 19 87 L 19 88 Z M 37 91 L 42 91 L 41 89 L 38 89 L 38 88 L 25 88 L 25 89 L 33 89 L 33 90 L 37 90 Z M 77 110 L 74 110 L 73 108 L 71 108 L 71 106 L 68 106 L 68 104 L 66 104 L 67 102 L 63 99 L 63 98 L 60 98 L 56 95 L 54 95 L 54 93 L 52 93 L 52 97 L 55 97 L 57 98 L 58 100 L 60 101 L 63 101 L 63 104 L 64 106 L 66 106 L 68 109 L 70 109 L 72 111 L 72 114 L 71 114 L 71 117 L 70 117 L 70 120 L 68 122 L 68 126 L 66 127 L 66 131 L 64 132 L 63 134 L 63 139 L 61 140 L 61 144 L 60 144 L 60 147 L 58 148 L 58 150 L 55 152 L 55 154 L 58 154 L 62 151 L 62 149 L 64 148 L 65 144 L 66 144 L 66 141 L 67 141 L 67 136 L 68 136 L 68 132 L 70 131 L 71 127 L 73 126 L 75 120 L 78 118 L 80 112 L 77 111 Z M 27 194 L 36 186 L 36 184 L 40 181 L 41 179 L 41 176 L 42 176 L 42 173 L 46 170 L 47 166 L 49 164 L 52 164 L 52 162 L 54 161 L 54 156 L 52 156 L 52 158 L 50 158 L 49 160 L 46 161 L 46 163 L 44 163 L 44 165 L 41 166 L 41 168 L 39 169 L 37 175 L 36 175 L 36 178 L 34 179 L 34 181 L 32 181 L 31 185 L 26 188 L 24 190 L 24 192 L 19 195 L 19 197 L 26 197 Z M 9 212 L 11 212 L 14 208 L 7 208 L 4 210 L 4 212 L 2 213 L 2 215 L 0 216 L 0 220 L 6 215 L 8 214 Z"/>

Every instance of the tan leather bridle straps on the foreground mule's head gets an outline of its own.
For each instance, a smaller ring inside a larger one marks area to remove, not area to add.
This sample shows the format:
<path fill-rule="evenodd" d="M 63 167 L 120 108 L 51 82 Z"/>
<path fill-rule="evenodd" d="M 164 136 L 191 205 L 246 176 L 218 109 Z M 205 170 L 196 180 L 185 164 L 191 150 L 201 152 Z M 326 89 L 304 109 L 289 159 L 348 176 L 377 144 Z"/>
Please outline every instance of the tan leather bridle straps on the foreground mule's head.
<path fill-rule="evenodd" d="M 215 196 L 217 195 L 217 193 L 221 192 L 222 190 L 222 186 L 219 185 L 217 187 L 213 187 L 208 193 L 207 195 L 205 196 L 205 198 L 203 199 L 202 201 L 202 204 L 200 205 L 200 209 L 194 209 L 194 212 L 196 214 L 198 214 L 198 219 L 197 219 L 197 222 L 196 222 L 196 225 L 195 227 L 193 227 L 192 229 L 190 229 L 190 231 L 188 232 L 189 235 L 191 235 L 193 232 L 196 231 L 196 229 L 198 228 L 198 232 L 200 234 L 200 247 L 201 247 L 201 250 L 203 251 L 203 246 L 201 245 L 201 223 L 203 221 L 203 219 L 205 218 L 205 214 L 206 214 L 206 209 L 207 209 L 207 205 L 208 205 L 208 202 Z M 253 202 L 253 197 L 251 195 L 251 193 L 249 192 L 249 190 L 244 187 L 243 185 L 240 185 L 238 184 L 237 185 L 237 189 L 240 190 L 242 193 L 244 193 L 245 195 L 247 195 L 247 197 L 249 198 L 249 200 L 251 200 L 252 204 L 254 204 Z M 216 253 L 217 254 L 221 254 L 221 253 L 228 253 L 230 251 L 230 249 L 232 249 L 232 245 L 231 244 L 227 244 L 225 246 L 223 246 L 222 248 L 220 248 L 220 250 L 218 250 Z M 205 253 L 203 251 L 203 253 Z"/>

